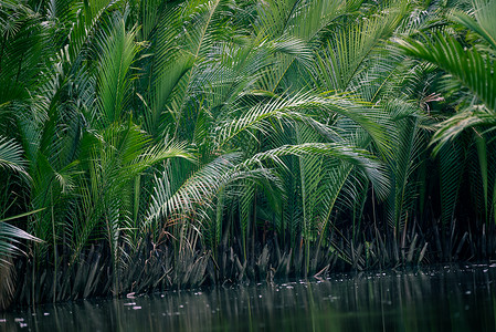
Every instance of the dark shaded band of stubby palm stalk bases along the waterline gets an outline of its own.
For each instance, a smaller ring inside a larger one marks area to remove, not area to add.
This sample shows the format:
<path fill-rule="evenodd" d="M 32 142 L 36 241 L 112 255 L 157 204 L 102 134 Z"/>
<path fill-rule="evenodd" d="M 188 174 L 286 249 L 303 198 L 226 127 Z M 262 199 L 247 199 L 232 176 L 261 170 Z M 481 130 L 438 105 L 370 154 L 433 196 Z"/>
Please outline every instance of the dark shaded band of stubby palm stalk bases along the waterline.
<path fill-rule="evenodd" d="M 346 234 L 333 232 L 334 246 L 298 246 L 281 248 L 276 234 L 265 235 L 265 242 L 254 243 L 254 256 L 243 258 L 240 241 L 220 243 L 217 256 L 212 251 L 182 250 L 173 243 L 154 246 L 143 242 L 127 263 L 113 270 L 112 257 L 105 243 L 93 245 L 72 264 L 36 268 L 31 260 L 18 260 L 11 268 L 13 297 L 3 305 L 14 302 L 31 305 L 94 297 L 126 297 L 154 291 L 190 289 L 207 284 L 243 283 L 288 278 L 326 279 L 336 272 L 405 269 L 436 262 L 478 261 L 494 259 L 496 253 L 495 227 L 469 228 L 456 231 L 432 225 L 421 232 L 419 225 L 404 228 L 395 236 L 384 237 L 373 226 L 363 237 L 370 240 L 347 240 Z M 305 250 L 309 248 L 310 263 L 305 264 Z M 54 276 L 56 271 L 56 277 Z M 117 276 L 116 276 L 117 274 Z M 117 277 L 117 278 L 116 278 Z M 115 280 L 118 280 L 115 283 Z"/>

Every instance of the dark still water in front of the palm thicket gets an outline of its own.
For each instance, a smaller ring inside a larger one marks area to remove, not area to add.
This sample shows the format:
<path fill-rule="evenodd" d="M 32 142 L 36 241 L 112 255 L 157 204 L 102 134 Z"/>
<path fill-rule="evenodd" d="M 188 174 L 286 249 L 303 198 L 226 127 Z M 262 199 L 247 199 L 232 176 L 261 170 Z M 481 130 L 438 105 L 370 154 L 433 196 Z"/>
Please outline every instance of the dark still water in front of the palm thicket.
<path fill-rule="evenodd" d="M 496 264 L 339 274 L 0 313 L 0 331 L 496 331 Z"/>

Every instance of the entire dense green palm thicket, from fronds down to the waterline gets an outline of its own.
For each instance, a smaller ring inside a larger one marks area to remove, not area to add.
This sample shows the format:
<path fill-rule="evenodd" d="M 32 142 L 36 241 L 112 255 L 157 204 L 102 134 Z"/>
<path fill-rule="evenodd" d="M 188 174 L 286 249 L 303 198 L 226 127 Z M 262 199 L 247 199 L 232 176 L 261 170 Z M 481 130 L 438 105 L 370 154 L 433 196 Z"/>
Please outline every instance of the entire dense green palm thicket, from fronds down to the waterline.
<path fill-rule="evenodd" d="M 495 14 L 0 1 L 0 302 L 493 257 Z"/>

